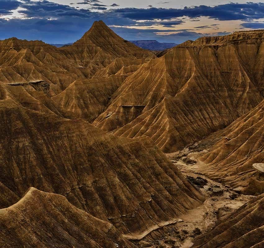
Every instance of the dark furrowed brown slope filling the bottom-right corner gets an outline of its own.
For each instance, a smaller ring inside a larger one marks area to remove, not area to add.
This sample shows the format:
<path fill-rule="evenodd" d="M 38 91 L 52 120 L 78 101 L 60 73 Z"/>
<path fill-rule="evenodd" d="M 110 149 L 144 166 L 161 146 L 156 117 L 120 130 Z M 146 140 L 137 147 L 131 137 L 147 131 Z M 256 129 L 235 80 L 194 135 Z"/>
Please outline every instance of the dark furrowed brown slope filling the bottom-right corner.
<path fill-rule="evenodd" d="M 221 220 L 212 231 L 194 241 L 192 248 L 261 248 L 264 229 L 263 194 Z"/>

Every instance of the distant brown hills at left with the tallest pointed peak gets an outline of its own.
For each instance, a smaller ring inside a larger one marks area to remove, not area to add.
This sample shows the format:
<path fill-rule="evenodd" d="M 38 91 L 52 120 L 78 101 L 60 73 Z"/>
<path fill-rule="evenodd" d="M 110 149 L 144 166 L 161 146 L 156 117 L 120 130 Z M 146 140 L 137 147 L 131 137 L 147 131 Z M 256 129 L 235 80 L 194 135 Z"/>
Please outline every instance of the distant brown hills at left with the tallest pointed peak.
<path fill-rule="evenodd" d="M 96 21 L 80 40 L 68 47 L 17 38 L 1 41 L 0 81 L 32 85 L 44 81 L 49 94 L 57 95 L 70 83 L 91 78 L 118 58 L 129 59 L 133 64 L 133 60 L 144 61 L 153 56 L 116 35 L 102 21 Z M 117 65 L 120 69 L 121 63 Z"/>

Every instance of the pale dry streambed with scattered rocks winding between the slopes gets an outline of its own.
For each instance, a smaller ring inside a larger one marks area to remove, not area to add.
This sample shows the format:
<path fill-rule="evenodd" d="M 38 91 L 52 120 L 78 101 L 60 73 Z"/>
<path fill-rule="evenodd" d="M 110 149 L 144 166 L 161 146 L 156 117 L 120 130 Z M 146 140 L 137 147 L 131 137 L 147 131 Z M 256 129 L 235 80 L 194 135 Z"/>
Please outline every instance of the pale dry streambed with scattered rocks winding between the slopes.
<path fill-rule="evenodd" d="M 202 175 L 200 171 L 205 164 L 196 157 L 206 153 L 207 150 L 201 151 L 199 142 L 191 148 L 193 149 L 187 147 L 180 152 L 166 153 L 166 156 L 180 169 L 190 183 L 206 197 L 206 200 L 202 205 L 180 215 L 175 224 L 152 231 L 140 241 L 134 240 L 133 243 L 138 247 L 192 247 L 195 237 L 210 231 L 217 221 L 224 219 L 241 206 L 246 206 L 250 200 L 257 197 L 241 194 L 239 188 L 233 189 L 222 183 L 221 180 L 216 182 Z"/>

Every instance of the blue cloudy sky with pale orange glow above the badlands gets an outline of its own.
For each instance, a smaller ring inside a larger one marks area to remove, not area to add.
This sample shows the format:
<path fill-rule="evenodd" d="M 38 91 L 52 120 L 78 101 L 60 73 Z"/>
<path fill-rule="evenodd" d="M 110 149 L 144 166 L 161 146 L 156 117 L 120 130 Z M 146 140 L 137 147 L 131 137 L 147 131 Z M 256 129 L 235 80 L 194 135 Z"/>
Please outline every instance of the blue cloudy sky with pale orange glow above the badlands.
<path fill-rule="evenodd" d="M 264 29 L 264 2 L 225 0 L 0 0 L 0 39 L 46 43 L 80 39 L 103 20 L 126 40 L 182 43 Z"/>

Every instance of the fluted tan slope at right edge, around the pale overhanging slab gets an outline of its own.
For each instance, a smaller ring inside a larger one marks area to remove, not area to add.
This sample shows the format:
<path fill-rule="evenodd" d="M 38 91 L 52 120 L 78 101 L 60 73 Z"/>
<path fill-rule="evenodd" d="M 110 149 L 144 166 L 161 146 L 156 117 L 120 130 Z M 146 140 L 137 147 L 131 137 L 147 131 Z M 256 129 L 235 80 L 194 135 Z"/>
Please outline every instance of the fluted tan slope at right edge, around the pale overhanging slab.
<path fill-rule="evenodd" d="M 202 172 L 212 179 L 221 178 L 233 187 L 243 186 L 243 193 L 263 193 L 264 175 L 252 167 L 254 163 L 264 160 L 263 133 L 264 101 L 224 130 L 212 135 L 222 138 L 200 157 L 200 160 L 208 163 Z"/>

